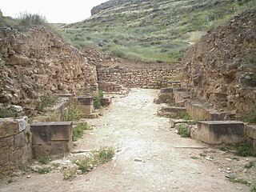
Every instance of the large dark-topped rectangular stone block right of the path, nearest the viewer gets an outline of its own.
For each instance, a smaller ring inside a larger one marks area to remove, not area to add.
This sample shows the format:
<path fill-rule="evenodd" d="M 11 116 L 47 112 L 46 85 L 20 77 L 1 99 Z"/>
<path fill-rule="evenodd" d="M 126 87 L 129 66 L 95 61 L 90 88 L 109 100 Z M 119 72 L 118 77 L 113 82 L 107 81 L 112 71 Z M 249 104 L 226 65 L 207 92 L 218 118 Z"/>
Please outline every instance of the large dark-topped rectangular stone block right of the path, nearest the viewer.
<path fill-rule="evenodd" d="M 196 138 L 208 144 L 236 144 L 245 142 L 244 123 L 237 121 L 198 122 Z"/>

